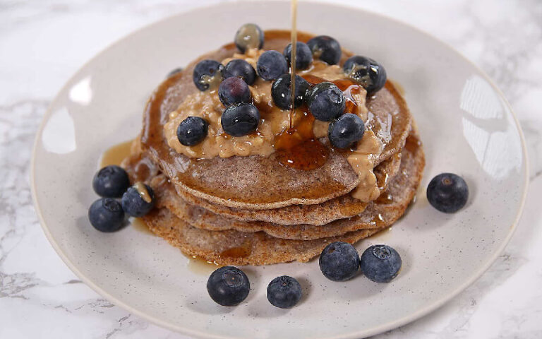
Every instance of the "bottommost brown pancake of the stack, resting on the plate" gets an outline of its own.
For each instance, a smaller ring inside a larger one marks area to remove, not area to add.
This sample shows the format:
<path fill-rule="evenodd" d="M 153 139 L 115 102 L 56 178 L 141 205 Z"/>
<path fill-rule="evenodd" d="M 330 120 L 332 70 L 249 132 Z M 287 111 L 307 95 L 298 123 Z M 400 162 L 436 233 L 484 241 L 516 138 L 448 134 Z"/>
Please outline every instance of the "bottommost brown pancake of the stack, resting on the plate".
<path fill-rule="evenodd" d="M 188 256 L 198 256 L 219 265 L 269 265 L 289 261 L 309 261 L 330 242 L 359 240 L 378 232 L 361 230 L 340 237 L 315 240 L 288 240 L 270 237 L 264 232 L 244 233 L 234 230 L 208 231 L 188 225 L 169 212 L 155 208 L 143 220 L 149 229 L 178 247 Z"/>

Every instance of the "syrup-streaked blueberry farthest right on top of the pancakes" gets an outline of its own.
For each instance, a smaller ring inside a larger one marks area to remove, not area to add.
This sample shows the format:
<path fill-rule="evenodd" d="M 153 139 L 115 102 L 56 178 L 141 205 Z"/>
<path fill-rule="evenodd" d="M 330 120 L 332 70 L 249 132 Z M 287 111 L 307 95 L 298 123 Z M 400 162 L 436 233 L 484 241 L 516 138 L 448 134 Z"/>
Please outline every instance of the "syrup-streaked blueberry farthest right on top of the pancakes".
<path fill-rule="evenodd" d="M 344 62 L 344 73 L 373 94 L 384 87 L 386 83 L 386 70 L 373 59 L 355 55 Z"/>

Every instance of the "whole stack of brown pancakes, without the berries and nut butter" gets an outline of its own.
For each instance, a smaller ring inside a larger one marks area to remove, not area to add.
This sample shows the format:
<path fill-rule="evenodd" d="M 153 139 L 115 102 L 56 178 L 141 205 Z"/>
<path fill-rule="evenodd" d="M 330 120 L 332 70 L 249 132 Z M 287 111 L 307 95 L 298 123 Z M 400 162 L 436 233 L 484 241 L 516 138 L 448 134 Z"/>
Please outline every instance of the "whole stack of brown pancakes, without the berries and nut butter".
<path fill-rule="evenodd" d="M 265 49 L 282 51 L 288 37 L 269 39 L 266 32 Z M 155 191 L 156 208 L 143 217 L 152 232 L 205 261 L 265 265 L 308 261 L 330 242 L 357 242 L 401 217 L 421 180 L 424 157 L 406 103 L 390 81 L 366 102 L 366 126 L 384 146 L 373 169 L 381 192 L 375 201 L 351 197 L 360 179 L 347 153 L 331 151 L 323 166 L 303 170 L 282 165 L 275 153 L 193 159 L 169 148 L 164 124 L 197 91 L 195 64 L 234 52 L 230 44 L 200 57 L 147 102 L 143 131 L 123 166 L 133 182 Z M 351 56 L 343 54 L 343 61 Z"/>

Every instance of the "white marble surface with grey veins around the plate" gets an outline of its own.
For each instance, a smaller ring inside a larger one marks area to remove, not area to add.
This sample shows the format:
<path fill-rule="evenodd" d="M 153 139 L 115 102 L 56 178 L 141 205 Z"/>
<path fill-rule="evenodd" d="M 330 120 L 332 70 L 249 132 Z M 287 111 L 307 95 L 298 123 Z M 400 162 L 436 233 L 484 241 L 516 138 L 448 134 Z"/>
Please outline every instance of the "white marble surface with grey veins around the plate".
<path fill-rule="evenodd" d="M 0 338 L 187 338 L 115 307 L 68 270 L 37 221 L 29 164 L 48 103 L 80 65 L 136 28 L 213 2 L 0 0 Z M 531 160 L 524 216 L 490 270 L 376 338 L 542 338 L 542 2 L 340 2 L 416 25 L 474 61 L 510 100 Z"/>

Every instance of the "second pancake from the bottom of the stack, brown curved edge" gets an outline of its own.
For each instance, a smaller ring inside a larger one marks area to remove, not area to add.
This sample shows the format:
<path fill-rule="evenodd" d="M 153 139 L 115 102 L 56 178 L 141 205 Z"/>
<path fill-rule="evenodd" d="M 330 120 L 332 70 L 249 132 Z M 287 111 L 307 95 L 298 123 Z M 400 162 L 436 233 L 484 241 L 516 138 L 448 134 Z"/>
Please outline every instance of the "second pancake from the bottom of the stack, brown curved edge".
<path fill-rule="evenodd" d="M 410 136 L 409 138 L 416 138 Z M 412 148 L 404 148 L 402 165 L 399 174 L 390 181 L 383 197 L 368 204 L 363 213 L 353 218 L 335 220 L 327 225 L 277 225 L 271 222 L 243 222 L 211 213 L 205 208 L 194 206 L 176 194 L 171 184 L 162 174 L 150 180 L 159 196 L 159 206 L 168 208 L 178 218 L 193 227 L 204 230 L 221 231 L 237 230 L 240 232 L 263 231 L 272 237 L 284 239 L 312 240 L 324 237 L 335 237 L 356 230 L 381 227 L 383 222 L 391 225 L 409 205 L 414 192 L 418 188 L 423 172 L 424 157 L 421 144 L 414 143 Z M 375 218 L 375 216 L 378 216 Z"/>

